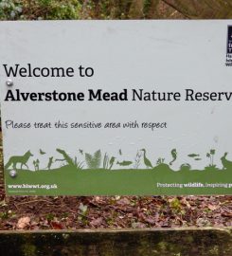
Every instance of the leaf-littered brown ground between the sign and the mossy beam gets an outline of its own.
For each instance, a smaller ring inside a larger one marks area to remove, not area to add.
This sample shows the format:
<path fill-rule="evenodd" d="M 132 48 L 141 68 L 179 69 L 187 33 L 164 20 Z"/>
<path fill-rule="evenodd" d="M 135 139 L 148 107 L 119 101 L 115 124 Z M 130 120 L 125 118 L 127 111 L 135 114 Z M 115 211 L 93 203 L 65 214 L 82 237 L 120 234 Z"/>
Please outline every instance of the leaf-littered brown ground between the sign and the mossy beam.
<path fill-rule="evenodd" d="M 2 230 L 232 227 L 232 196 L 6 196 L 0 147 Z"/>

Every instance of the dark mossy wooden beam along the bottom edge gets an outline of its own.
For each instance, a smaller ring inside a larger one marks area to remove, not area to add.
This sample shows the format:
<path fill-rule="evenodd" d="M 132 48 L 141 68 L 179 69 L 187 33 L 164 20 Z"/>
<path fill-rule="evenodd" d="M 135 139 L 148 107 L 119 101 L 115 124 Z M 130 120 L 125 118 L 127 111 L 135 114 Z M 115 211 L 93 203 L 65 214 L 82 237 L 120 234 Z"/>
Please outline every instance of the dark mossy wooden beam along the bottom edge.
<path fill-rule="evenodd" d="M 13 245 L 13 247 L 9 247 Z M 228 256 L 231 229 L 0 231 L 0 255 Z"/>

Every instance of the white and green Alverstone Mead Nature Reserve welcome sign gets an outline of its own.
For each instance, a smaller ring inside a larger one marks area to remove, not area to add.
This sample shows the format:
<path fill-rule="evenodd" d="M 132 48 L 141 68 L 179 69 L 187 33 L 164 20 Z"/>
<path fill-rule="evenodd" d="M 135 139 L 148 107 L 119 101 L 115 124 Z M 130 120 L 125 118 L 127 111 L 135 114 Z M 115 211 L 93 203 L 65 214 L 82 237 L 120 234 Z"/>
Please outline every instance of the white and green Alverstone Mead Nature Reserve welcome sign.
<path fill-rule="evenodd" d="M 9 195 L 232 194 L 232 21 L 1 22 Z"/>

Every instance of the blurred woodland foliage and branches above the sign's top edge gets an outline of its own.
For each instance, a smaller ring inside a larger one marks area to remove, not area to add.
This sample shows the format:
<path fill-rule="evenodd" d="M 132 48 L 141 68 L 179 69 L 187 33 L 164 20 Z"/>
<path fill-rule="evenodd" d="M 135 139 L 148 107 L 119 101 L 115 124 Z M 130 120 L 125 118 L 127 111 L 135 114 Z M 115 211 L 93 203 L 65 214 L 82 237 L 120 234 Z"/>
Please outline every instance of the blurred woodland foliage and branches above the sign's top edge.
<path fill-rule="evenodd" d="M 0 20 L 231 17 L 231 0 L 0 0 Z"/>

